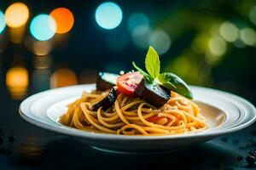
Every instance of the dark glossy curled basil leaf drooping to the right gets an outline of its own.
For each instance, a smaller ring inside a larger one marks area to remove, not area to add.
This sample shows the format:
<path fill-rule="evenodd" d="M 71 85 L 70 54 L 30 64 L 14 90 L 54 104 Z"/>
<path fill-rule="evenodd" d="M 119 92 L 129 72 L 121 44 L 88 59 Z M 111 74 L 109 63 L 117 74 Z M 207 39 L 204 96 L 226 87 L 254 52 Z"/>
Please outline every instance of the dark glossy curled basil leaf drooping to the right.
<path fill-rule="evenodd" d="M 177 75 L 171 72 L 161 73 L 158 77 L 159 82 L 166 88 L 181 94 L 186 98 L 193 99 L 193 94 L 191 93 L 189 86 Z"/>

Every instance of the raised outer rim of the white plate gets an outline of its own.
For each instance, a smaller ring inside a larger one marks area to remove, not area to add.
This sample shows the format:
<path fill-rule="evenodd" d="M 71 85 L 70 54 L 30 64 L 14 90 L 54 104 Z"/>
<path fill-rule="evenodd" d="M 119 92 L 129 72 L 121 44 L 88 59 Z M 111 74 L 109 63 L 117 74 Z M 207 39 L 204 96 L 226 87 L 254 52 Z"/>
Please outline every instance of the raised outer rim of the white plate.
<path fill-rule="evenodd" d="M 253 104 L 251 104 L 249 101 L 247 101 L 247 99 L 243 99 L 240 96 L 237 96 L 236 94 L 230 94 L 228 92 L 224 92 L 218 89 L 213 89 L 213 88 L 204 88 L 204 87 L 198 87 L 198 86 L 189 86 L 191 88 L 199 88 L 201 90 L 208 90 L 208 91 L 214 91 L 217 92 L 218 94 L 224 94 L 224 95 L 229 95 L 232 98 L 236 99 L 236 102 L 242 102 L 243 106 L 246 105 L 247 110 L 252 111 L 253 112 L 253 118 L 247 122 L 244 122 L 236 127 L 231 127 L 228 129 L 224 129 L 223 131 L 216 131 L 216 132 L 209 132 L 209 133 L 187 133 L 187 134 L 177 134 L 177 135 L 160 135 L 160 136 L 125 136 L 125 135 L 117 135 L 117 134 L 109 134 L 109 133 L 93 133 L 93 132 L 87 132 L 87 131 L 83 131 L 83 130 L 79 130 L 73 127 L 54 127 L 54 126 L 49 126 L 49 124 L 43 123 L 43 122 L 38 122 L 35 119 L 32 119 L 32 117 L 27 116 L 26 113 L 24 113 L 23 111 L 21 111 L 21 108 L 24 107 L 24 105 L 31 99 L 36 98 L 37 96 L 43 95 L 43 94 L 48 94 L 52 91 L 57 91 L 57 90 L 61 90 L 61 89 L 67 89 L 67 88 L 82 88 L 84 86 L 95 86 L 95 83 L 90 83 L 90 84 L 82 84 L 82 85 L 74 85 L 74 86 L 69 86 L 69 87 L 64 87 L 64 88 L 53 88 L 53 89 L 49 89 L 43 92 L 40 92 L 38 94 L 33 94 L 31 96 L 29 96 L 28 98 L 24 99 L 21 103 L 20 103 L 20 107 L 19 107 L 19 113 L 20 116 L 26 120 L 26 122 L 30 122 L 35 126 L 38 127 L 43 127 L 44 129 L 50 130 L 50 131 L 54 131 L 56 133 L 62 133 L 62 134 L 67 134 L 67 135 L 71 135 L 71 136 L 76 136 L 79 138 L 86 138 L 86 139 L 104 139 L 104 140 L 156 140 L 156 139 L 191 139 L 191 138 L 207 138 L 207 137 L 214 137 L 214 136 L 218 136 L 218 135 L 223 135 L 225 133 L 233 133 L 236 132 L 238 130 L 241 130 L 245 127 L 248 127 L 250 125 L 253 124 L 253 122 L 256 121 L 256 109 L 253 106 Z M 35 99 L 34 99 L 35 100 Z M 33 101 L 34 101 L 33 100 Z M 240 100 L 240 101 L 239 101 Z"/>

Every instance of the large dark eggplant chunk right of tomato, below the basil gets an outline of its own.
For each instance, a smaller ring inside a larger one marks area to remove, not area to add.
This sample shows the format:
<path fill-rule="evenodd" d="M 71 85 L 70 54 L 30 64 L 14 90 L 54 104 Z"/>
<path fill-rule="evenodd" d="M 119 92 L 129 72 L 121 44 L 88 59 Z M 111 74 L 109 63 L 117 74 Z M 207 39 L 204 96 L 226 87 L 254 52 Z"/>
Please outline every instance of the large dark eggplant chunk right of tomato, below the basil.
<path fill-rule="evenodd" d="M 161 107 L 170 99 L 171 93 L 168 89 L 158 84 L 151 84 L 143 78 L 138 84 L 135 94 L 149 104 Z"/>

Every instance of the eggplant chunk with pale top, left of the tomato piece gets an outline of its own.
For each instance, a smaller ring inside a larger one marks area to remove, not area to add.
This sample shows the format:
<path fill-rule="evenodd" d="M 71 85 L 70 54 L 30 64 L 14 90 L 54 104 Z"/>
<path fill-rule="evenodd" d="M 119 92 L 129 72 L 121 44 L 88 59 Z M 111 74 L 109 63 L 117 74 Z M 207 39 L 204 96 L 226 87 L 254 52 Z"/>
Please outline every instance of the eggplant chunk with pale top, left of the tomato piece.
<path fill-rule="evenodd" d="M 109 73 L 109 72 L 99 72 L 97 81 L 96 81 L 96 89 L 105 91 L 116 85 L 116 79 L 119 77 L 117 74 Z"/>

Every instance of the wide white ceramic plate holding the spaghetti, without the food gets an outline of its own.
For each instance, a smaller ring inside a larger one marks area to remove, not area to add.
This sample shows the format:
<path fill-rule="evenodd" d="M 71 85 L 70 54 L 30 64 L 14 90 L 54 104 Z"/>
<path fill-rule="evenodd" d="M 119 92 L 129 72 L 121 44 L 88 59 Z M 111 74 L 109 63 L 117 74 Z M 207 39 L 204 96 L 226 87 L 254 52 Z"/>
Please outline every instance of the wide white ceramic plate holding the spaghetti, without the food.
<path fill-rule="evenodd" d="M 27 122 L 57 133 L 65 133 L 90 144 L 93 148 L 114 153 L 148 153 L 177 150 L 189 144 L 213 139 L 225 133 L 233 133 L 251 125 L 256 111 L 247 100 L 211 88 L 191 87 L 195 102 L 201 107 L 210 127 L 201 133 L 167 136 L 124 136 L 107 133 L 91 133 L 58 122 L 67 111 L 67 104 L 79 98 L 83 91 L 90 92 L 95 84 L 55 88 L 34 94 L 20 104 L 20 116 Z"/>

